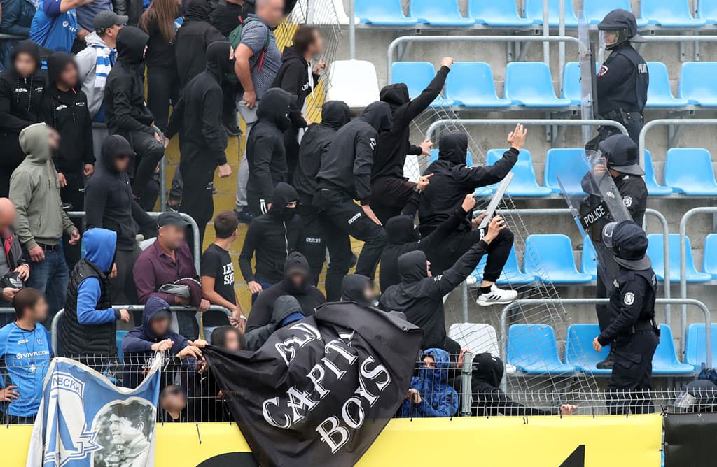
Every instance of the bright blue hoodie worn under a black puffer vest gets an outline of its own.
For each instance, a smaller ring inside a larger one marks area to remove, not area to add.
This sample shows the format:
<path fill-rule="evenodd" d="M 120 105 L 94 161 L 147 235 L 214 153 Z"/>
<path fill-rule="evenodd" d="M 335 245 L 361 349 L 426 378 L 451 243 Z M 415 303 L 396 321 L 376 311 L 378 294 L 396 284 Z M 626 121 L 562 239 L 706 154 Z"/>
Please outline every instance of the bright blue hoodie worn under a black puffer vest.
<path fill-rule="evenodd" d="M 106 228 L 90 228 L 82 236 L 85 259 L 109 274 L 115 259 L 117 233 Z M 120 319 L 119 310 L 95 309 L 100 300 L 100 280 L 96 277 L 82 279 L 77 288 L 77 321 L 83 326 L 105 324 Z"/>

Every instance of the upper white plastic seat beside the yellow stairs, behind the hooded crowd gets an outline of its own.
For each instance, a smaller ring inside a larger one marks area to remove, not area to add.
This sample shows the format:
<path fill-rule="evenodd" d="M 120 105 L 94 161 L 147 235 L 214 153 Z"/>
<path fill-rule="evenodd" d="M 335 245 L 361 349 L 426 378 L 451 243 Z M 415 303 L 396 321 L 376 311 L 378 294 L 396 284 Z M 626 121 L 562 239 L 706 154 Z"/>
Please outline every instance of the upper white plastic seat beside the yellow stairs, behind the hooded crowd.
<path fill-rule="evenodd" d="M 326 100 L 343 100 L 348 107 L 366 107 L 379 100 L 376 68 L 365 60 L 336 60 L 329 65 L 331 87 Z"/>

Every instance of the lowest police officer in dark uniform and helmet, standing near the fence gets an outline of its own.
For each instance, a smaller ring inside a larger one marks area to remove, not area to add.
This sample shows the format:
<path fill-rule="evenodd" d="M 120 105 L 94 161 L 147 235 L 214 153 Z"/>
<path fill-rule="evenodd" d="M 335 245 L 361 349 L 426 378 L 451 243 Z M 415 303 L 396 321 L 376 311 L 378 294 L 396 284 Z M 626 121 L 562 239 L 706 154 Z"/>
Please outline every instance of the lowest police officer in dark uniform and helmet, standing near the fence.
<path fill-rule="evenodd" d="M 655 325 L 657 279 L 645 254 L 647 235 L 635 222 L 611 222 L 603 228 L 603 241 L 620 266 L 610 295 L 610 325 L 592 343 L 597 352 L 605 345 L 615 350 L 607 405 L 612 414 L 652 413 L 647 391 L 652 389 L 652 355 L 660 331 Z"/>

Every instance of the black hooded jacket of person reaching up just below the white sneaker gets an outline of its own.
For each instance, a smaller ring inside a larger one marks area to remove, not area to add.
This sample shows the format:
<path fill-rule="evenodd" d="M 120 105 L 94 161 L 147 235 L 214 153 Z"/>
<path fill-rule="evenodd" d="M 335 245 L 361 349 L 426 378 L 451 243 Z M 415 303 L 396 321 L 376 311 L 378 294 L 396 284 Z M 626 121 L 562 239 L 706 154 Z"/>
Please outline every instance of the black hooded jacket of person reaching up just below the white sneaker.
<path fill-rule="evenodd" d="M 443 296 L 465 281 L 480 258 L 488 251 L 488 244 L 479 241 L 466 251 L 455 264 L 437 277 L 428 277 L 426 254 L 410 251 L 399 256 L 401 283 L 381 294 L 379 303 L 386 312 L 402 312 L 409 322 L 423 330 L 422 349 L 444 348 L 446 340 Z"/>

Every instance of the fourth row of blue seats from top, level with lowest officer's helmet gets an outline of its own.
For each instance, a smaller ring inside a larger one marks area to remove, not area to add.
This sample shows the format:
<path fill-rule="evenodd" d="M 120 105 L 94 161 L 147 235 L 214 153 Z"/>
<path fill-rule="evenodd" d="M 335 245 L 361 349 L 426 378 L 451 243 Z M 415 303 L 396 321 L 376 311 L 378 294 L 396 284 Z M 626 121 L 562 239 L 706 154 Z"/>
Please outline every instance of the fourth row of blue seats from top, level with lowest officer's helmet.
<path fill-rule="evenodd" d="M 647 256 L 652 259 L 652 269 L 660 281 L 665 280 L 665 248 L 661 233 L 647 236 Z M 704 284 L 717 280 L 717 233 L 709 234 L 705 239 L 702 271 L 695 267 L 690 238 L 686 239 L 685 279 L 690 284 Z M 668 239 L 670 252 L 670 282 L 680 281 L 680 236 L 670 233 Z M 471 282 L 482 279 L 485 258 L 471 274 Z M 518 264 L 515 249 L 511 250 L 508 261 L 498 284 L 512 286 L 531 284 L 536 281 L 549 281 L 556 285 L 589 284 L 597 279 L 597 255 L 589 239 L 584 239 L 580 259 L 580 269 L 573 256 L 573 246 L 568 236 L 561 233 L 529 235 L 526 239 L 523 268 Z"/>

